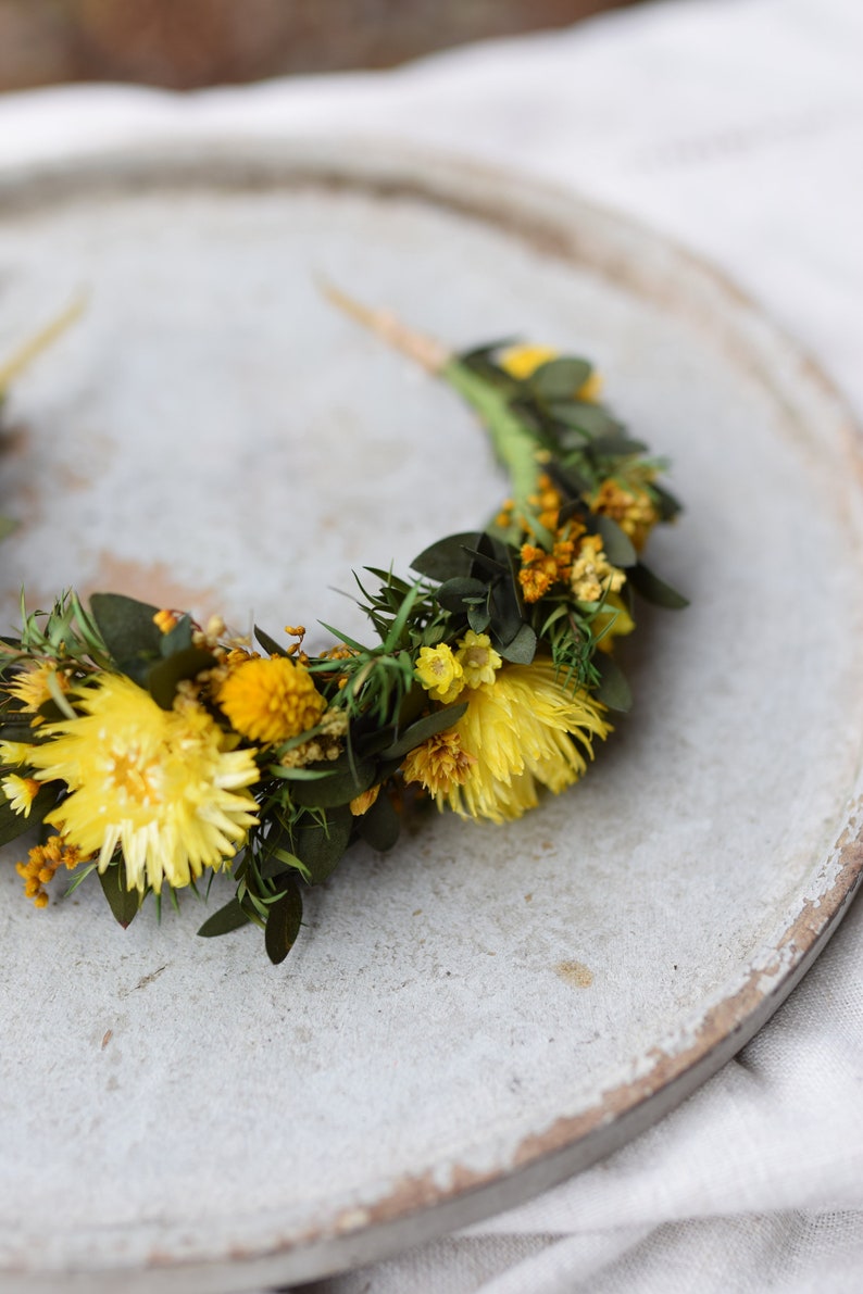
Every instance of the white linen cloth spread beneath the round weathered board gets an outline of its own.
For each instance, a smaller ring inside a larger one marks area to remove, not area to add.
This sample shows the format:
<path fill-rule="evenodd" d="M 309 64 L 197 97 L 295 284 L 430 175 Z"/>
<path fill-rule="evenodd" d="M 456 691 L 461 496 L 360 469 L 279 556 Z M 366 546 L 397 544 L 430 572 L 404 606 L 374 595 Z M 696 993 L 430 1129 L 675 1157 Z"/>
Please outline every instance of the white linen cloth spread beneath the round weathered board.
<path fill-rule="evenodd" d="M 0 167 L 182 132 L 352 133 L 569 185 L 735 278 L 863 421 L 863 5 L 666 0 L 393 72 L 0 101 Z M 863 908 L 662 1123 L 489 1222 L 307 1294 L 863 1289 Z"/>

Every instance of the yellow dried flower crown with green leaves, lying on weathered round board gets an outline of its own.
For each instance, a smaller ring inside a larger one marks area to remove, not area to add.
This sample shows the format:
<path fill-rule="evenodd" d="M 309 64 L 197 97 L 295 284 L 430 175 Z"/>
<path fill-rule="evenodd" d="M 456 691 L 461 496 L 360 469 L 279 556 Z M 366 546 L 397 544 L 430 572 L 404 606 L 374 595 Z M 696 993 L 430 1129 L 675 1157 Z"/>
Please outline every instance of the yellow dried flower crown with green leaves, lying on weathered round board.
<path fill-rule="evenodd" d="M 448 382 L 485 424 L 511 497 L 483 529 L 414 558 L 418 578 L 366 568 L 366 646 L 303 648 L 303 626 L 255 642 L 221 620 L 74 591 L 1 641 L 0 844 L 38 827 L 17 868 L 36 907 L 61 868 L 96 875 L 127 927 L 151 892 L 235 895 L 199 934 L 247 923 L 272 961 L 295 942 L 303 889 L 357 840 L 391 849 L 414 802 L 503 823 L 538 788 L 576 782 L 626 710 L 613 657 L 634 595 L 686 599 L 640 553 L 679 505 L 665 466 L 600 404 L 589 361 L 505 343 L 450 355 L 327 289 L 343 309 Z M 0 400 L 58 321 L 0 370 Z M 290 642 L 287 641 L 290 639 Z"/>

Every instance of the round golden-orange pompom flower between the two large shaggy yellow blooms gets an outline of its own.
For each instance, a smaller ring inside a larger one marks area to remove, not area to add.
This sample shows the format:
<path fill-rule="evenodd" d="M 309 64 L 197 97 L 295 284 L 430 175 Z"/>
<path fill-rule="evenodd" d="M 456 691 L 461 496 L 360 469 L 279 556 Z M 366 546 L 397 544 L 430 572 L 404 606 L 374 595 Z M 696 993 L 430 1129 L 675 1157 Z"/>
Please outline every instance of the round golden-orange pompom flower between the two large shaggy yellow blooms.
<path fill-rule="evenodd" d="M 305 665 L 286 656 L 242 661 L 220 685 L 216 700 L 235 732 L 264 745 L 308 732 L 326 707 Z"/>

